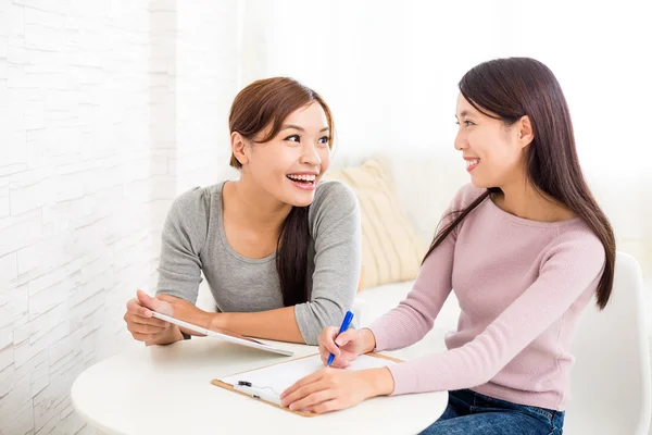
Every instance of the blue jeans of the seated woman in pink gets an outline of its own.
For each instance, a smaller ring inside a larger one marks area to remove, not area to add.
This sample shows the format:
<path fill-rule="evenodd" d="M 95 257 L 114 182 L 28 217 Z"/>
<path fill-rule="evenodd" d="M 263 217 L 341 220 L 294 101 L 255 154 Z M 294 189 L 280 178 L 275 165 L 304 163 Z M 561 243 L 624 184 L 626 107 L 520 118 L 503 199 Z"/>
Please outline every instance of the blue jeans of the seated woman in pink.
<path fill-rule="evenodd" d="M 439 420 L 422 435 L 561 435 L 564 412 L 494 399 L 471 389 L 449 393 Z"/>

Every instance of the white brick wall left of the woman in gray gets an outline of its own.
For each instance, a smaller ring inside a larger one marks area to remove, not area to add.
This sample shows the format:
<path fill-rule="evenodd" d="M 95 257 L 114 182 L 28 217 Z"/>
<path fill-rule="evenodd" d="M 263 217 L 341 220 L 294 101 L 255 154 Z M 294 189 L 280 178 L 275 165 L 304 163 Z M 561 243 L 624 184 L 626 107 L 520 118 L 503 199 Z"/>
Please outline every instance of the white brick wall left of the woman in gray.
<path fill-rule="evenodd" d="M 237 1 L 180 3 L 0 0 L 2 435 L 95 433 L 73 381 L 139 346 L 171 200 L 233 174 Z"/>

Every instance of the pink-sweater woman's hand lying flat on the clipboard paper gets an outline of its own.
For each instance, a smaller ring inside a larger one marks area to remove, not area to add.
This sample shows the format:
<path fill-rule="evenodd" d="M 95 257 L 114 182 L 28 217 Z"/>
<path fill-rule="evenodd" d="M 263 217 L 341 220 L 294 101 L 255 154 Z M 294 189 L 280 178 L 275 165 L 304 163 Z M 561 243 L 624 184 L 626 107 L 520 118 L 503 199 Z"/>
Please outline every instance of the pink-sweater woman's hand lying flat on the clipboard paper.
<path fill-rule="evenodd" d="M 321 414 L 391 391 L 393 377 L 387 368 L 359 371 L 325 368 L 283 391 L 280 405 Z"/>

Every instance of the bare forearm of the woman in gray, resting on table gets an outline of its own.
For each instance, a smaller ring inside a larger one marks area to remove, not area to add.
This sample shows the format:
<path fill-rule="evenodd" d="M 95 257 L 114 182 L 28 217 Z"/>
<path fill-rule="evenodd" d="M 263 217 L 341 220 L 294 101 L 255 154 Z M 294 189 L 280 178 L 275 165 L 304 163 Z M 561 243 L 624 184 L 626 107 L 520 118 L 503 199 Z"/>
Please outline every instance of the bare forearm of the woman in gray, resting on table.
<path fill-rule="evenodd" d="M 305 343 L 297 324 L 294 307 L 261 312 L 216 313 L 211 328 L 278 341 Z"/>

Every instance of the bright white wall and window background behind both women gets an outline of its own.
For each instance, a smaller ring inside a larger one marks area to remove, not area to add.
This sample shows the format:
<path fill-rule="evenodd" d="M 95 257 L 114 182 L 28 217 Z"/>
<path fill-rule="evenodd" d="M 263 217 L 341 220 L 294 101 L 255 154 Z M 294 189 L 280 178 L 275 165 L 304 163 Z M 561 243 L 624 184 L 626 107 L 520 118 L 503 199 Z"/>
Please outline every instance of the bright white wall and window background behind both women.
<path fill-rule="evenodd" d="M 258 78 L 321 92 L 338 157 L 456 159 L 461 76 L 543 61 L 650 276 L 651 18 L 642 0 L 0 0 L 0 433 L 92 432 L 72 382 L 139 346 L 124 306 L 153 288 L 171 200 L 233 176 L 227 113 Z"/>

